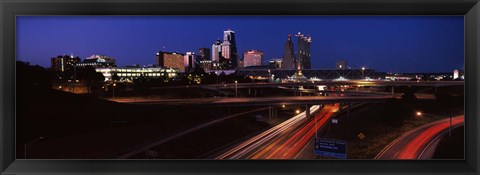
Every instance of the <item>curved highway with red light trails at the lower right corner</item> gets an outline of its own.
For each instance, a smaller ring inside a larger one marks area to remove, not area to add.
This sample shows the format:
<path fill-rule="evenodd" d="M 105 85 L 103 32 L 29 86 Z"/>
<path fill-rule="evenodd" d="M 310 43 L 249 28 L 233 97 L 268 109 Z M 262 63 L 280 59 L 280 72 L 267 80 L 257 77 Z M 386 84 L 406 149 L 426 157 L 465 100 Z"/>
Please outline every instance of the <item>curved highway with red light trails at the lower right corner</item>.
<path fill-rule="evenodd" d="M 463 125 L 464 121 L 463 115 L 453 117 L 452 128 Z M 448 133 L 449 127 L 447 118 L 412 129 L 388 144 L 374 159 L 429 159 L 431 155 L 425 155 L 427 150 Z"/>

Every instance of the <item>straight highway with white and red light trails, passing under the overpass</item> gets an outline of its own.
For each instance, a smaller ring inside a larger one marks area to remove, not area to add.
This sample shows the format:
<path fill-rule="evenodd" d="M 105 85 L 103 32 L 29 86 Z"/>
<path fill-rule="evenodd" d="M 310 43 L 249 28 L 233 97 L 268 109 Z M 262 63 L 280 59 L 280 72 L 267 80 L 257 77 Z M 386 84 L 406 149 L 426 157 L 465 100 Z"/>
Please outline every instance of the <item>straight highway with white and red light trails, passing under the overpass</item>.
<path fill-rule="evenodd" d="M 305 145 L 314 137 L 315 131 L 320 129 L 335 112 L 339 104 L 312 106 L 311 113 L 320 112 L 306 119 L 302 112 L 273 128 L 256 135 L 216 159 L 292 159 L 302 152 Z M 312 153 L 313 154 L 313 153 Z"/>

